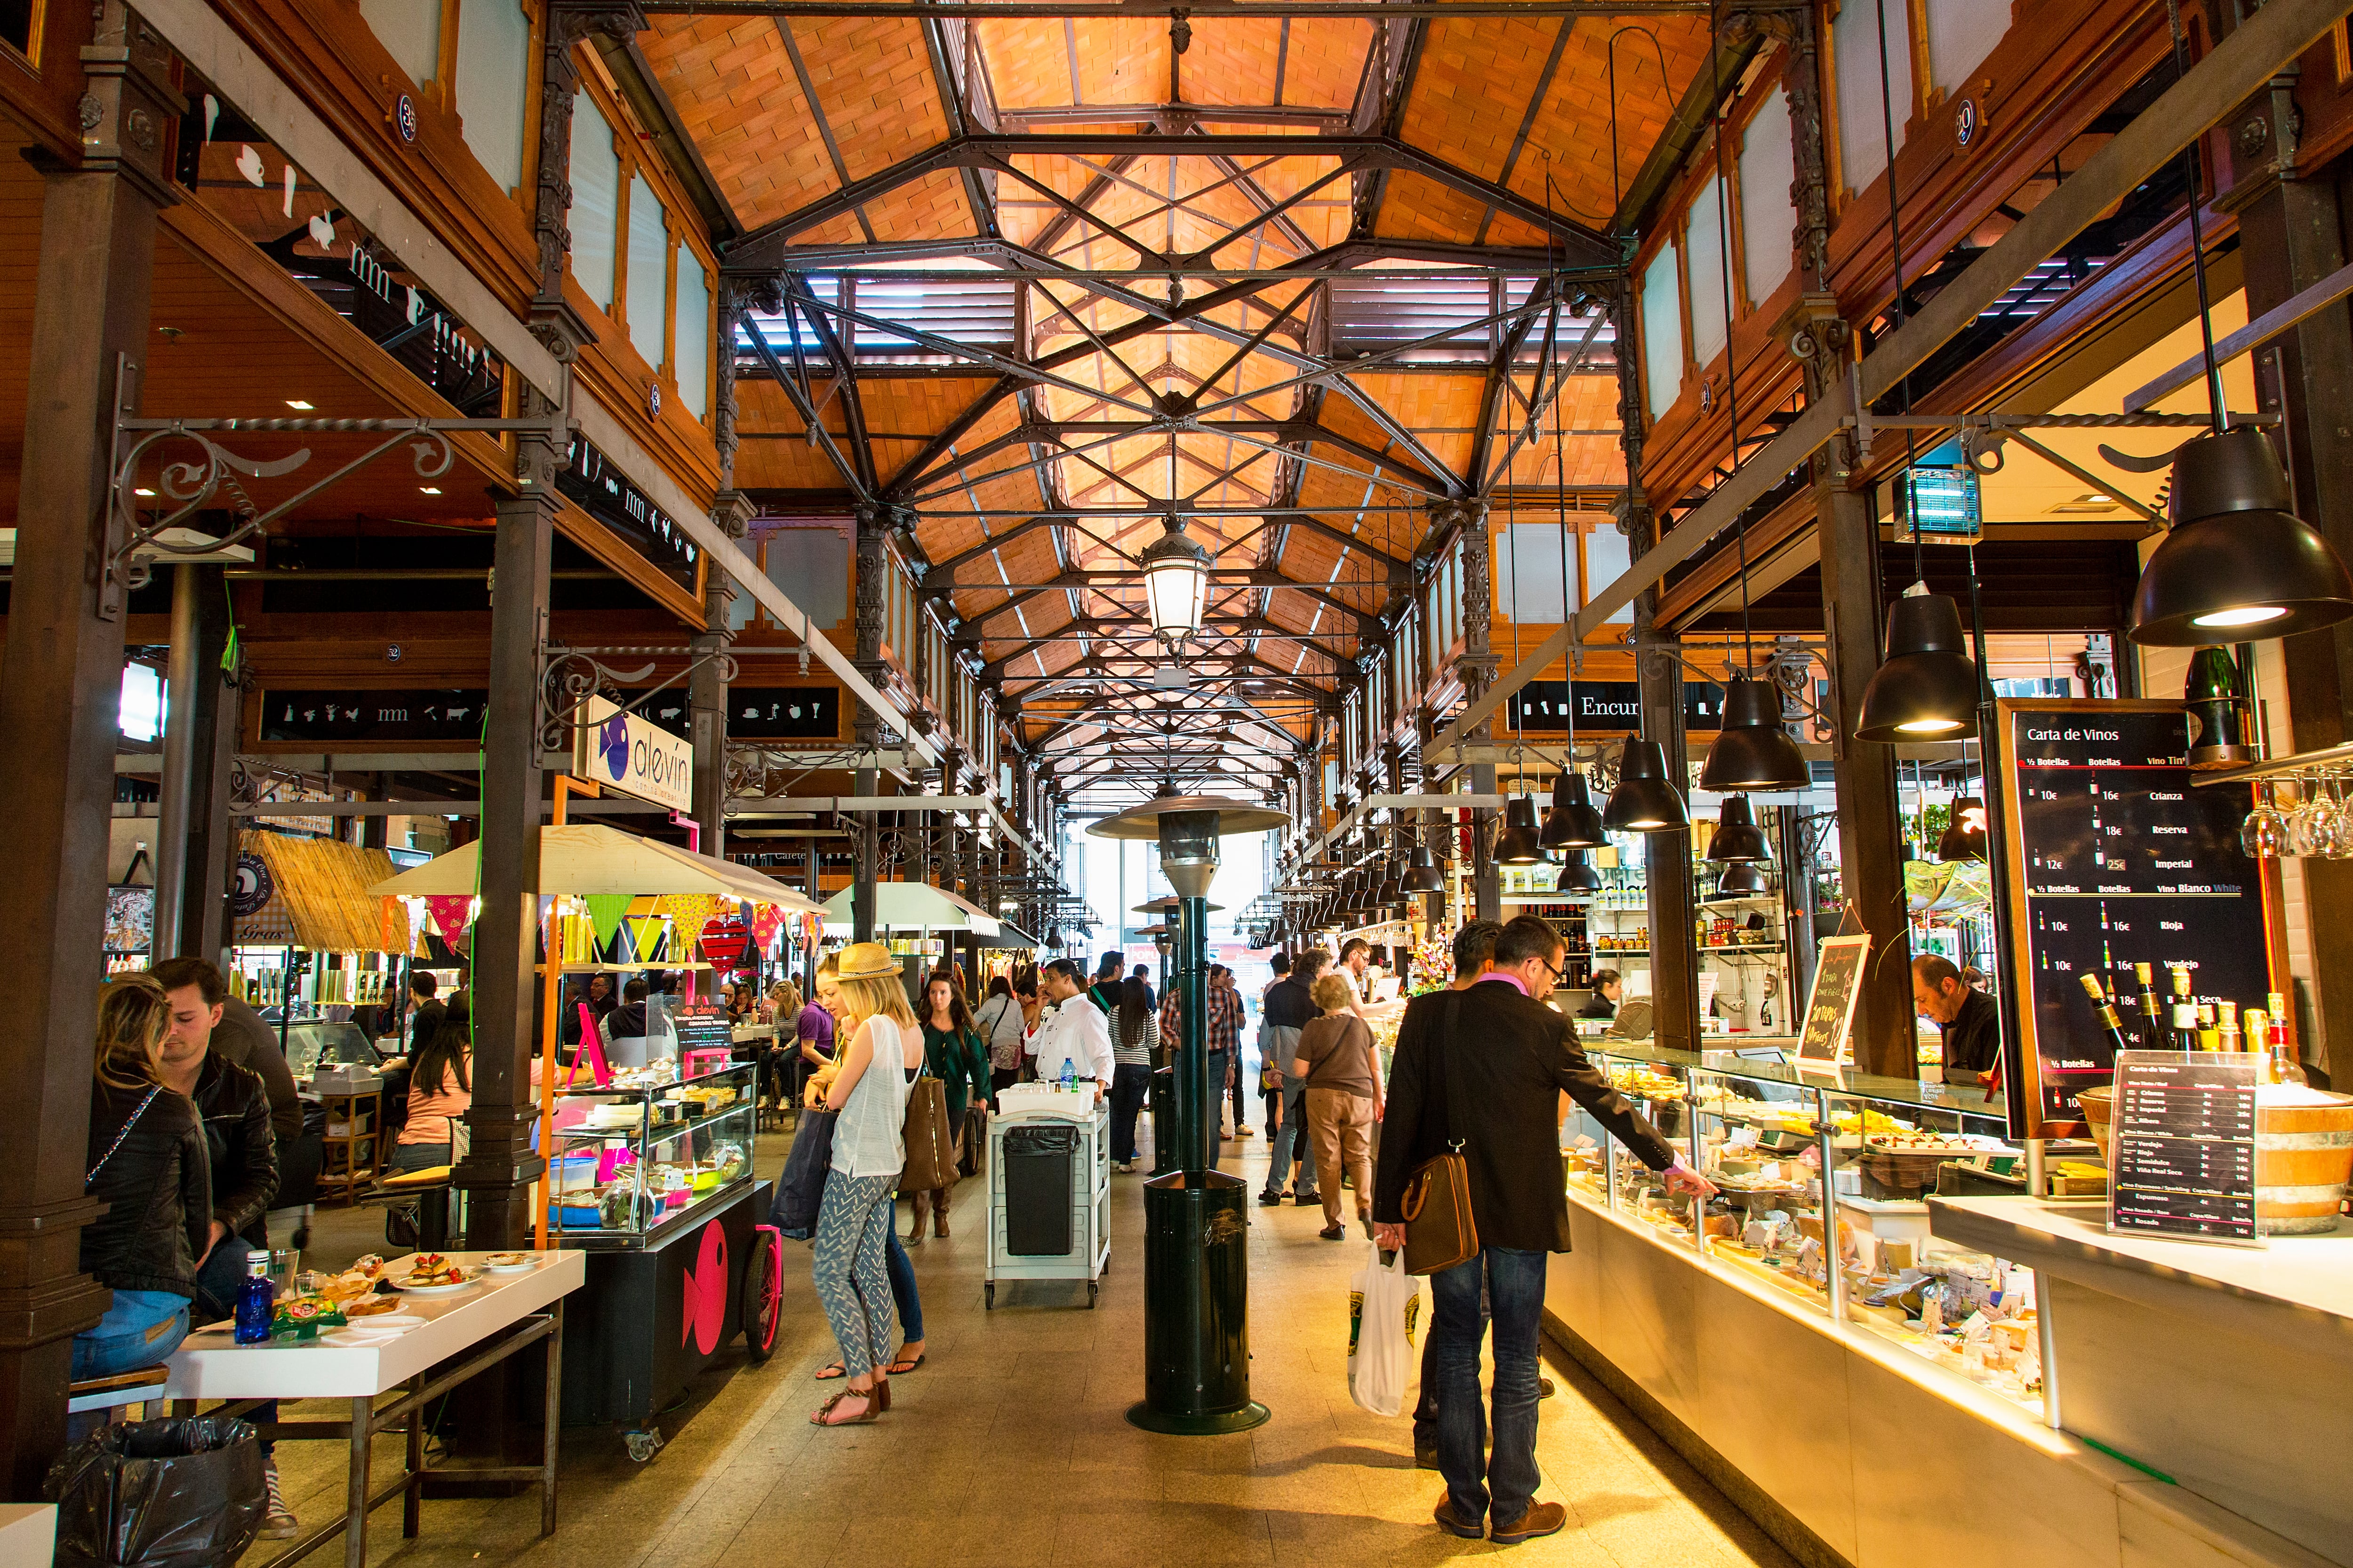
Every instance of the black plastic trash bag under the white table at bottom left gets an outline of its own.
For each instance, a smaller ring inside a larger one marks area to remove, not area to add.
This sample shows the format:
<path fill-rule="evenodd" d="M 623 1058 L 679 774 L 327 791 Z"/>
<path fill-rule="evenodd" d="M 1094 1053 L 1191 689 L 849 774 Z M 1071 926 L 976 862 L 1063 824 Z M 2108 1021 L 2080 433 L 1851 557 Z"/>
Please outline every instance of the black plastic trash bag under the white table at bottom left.
<path fill-rule="evenodd" d="M 59 1568 L 214 1568 L 261 1533 L 261 1443 L 249 1422 L 122 1422 L 66 1450 L 42 1481 Z"/>

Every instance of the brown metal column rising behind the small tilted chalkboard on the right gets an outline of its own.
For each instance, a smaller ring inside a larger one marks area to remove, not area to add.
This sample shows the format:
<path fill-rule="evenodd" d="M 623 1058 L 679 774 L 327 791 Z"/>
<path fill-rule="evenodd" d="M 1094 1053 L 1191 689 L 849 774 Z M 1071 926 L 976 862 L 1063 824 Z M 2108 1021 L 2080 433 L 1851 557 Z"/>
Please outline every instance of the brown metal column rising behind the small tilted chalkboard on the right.
<path fill-rule="evenodd" d="M 1833 443 L 1831 452 L 1840 447 Z M 1854 739 L 1864 687 L 1880 666 L 1880 530 L 1871 497 L 1849 490 L 1835 461 L 1817 461 L 1814 473 L 1821 614 L 1838 659 L 1831 770 L 1838 779 L 1838 869 L 1847 904 L 1842 928 L 1871 932 L 1871 963 L 1854 1008 L 1854 1064 L 1866 1074 L 1918 1078 L 1897 753 L 1894 746 Z M 2002 975 L 2002 989 L 2014 984 L 2024 977 Z"/>

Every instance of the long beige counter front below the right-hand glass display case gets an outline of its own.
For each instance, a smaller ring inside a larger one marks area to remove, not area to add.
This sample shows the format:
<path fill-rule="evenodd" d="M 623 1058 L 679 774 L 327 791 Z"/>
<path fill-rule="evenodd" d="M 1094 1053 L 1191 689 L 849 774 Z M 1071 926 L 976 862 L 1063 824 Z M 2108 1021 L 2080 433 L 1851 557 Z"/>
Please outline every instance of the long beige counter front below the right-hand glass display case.
<path fill-rule="evenodd" d="M 1553 1257 L 1546 1328 L 1814 1568 L 2353 1561 L 2052 1431 L 2017 1401 L 1577 1189 L 1569 1229 L 1577 1250 Z M 2332 1450 L 2339 1476 L 2346 1453 Z M 1555 1483 L 1574 1490 L 1577 1479 Z"/>

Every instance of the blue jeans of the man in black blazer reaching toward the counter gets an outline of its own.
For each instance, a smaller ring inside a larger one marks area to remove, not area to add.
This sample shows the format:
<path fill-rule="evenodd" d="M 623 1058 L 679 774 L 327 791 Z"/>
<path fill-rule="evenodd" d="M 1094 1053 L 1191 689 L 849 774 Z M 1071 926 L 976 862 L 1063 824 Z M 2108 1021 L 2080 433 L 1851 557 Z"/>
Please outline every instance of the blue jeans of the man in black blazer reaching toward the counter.
<path fill-rule="evenodd" d="M 1438 1361 L 1438 1471 L 1461 1519 L 1518 1523 L 1537 1500 L 1537 1335 L 1546 1253 L 1485 1248 L 1431 1276 Z M 1494 1450 L 1478 1394 L 1480 1283 L 1494 1311 Z"/>

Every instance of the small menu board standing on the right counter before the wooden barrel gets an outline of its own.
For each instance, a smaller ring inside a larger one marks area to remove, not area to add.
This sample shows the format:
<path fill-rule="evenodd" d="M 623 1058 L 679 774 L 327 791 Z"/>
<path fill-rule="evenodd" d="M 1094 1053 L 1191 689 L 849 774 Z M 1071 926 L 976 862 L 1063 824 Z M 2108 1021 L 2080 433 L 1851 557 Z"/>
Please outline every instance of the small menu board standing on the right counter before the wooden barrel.
<path fill-rule="evenodd" d="M 2261 1245 L 2254 1222 L 2259 1059 L 2219 1050 L 2115 1055 L 2108 1229 Z"/>

